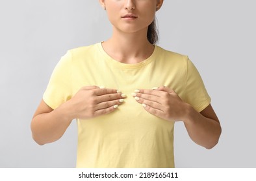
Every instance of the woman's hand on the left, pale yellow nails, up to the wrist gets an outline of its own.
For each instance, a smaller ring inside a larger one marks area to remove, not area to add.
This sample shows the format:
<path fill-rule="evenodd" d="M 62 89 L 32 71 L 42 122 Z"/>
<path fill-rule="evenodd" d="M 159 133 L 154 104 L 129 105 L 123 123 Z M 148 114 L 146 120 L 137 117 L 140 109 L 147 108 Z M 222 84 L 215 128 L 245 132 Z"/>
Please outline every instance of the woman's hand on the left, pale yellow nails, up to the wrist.
<path fill-rule="evenodd" d="M 116 89 L 105 89 L 97 86 L 82 87 L 70 100 L 62 106 L 67 106 L 70 119 L 87 120 L 115 111 L 123 103 L 125 94 Z"/>

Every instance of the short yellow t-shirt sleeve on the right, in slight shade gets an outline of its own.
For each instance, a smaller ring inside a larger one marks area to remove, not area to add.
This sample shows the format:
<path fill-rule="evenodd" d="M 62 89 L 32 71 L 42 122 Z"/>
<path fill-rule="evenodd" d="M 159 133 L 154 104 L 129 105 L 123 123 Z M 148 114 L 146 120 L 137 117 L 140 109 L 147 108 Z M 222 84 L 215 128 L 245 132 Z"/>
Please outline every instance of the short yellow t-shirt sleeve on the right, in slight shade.
<path fill-rule="evenodd" d="M 201 112 L 211 103 L 211 98 L 192 61 L 190 61 L 189 58 L 186 58 L 186 63 L 186 102 L 192 105 L 196 111 Z"/>

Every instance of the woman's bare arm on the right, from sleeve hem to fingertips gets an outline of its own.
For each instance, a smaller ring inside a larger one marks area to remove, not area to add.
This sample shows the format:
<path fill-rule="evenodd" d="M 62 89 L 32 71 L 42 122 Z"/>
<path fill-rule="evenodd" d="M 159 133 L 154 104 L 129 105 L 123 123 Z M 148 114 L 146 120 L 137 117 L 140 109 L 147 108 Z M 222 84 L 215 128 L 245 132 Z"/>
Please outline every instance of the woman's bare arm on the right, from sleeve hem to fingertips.
<path fill-rule="evenodd" d="M 218 143 L 222 129 L 211 104 L 197 112 L 185 103 L 172 89 L 159 87 L 156 90 L 136 90 L 134 97 L 147 112 L 168 121 L 185 123 L 190 138 L 207 149 Z"/>

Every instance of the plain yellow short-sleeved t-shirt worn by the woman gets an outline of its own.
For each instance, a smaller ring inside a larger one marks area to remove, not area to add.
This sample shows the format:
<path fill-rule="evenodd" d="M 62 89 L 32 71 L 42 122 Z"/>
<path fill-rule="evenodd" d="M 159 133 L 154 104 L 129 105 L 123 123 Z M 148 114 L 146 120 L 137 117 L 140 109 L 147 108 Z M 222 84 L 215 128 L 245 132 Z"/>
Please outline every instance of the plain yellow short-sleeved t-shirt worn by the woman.
<path fill-rule="evenodd" d="M 53 71 L 44 101 L 56 109 L 86 85 L 118 89 L 127 98 L 110 114 L 77 120 L 77 167 L 174 167 L 174 123 L 149 114 L 131 96 L 135 89 L 165 85 L 198 112 L 211 102 L 188 57 L 158 46 L 136 64 L 110 58 L 101 43 L 69 50 Z"/>

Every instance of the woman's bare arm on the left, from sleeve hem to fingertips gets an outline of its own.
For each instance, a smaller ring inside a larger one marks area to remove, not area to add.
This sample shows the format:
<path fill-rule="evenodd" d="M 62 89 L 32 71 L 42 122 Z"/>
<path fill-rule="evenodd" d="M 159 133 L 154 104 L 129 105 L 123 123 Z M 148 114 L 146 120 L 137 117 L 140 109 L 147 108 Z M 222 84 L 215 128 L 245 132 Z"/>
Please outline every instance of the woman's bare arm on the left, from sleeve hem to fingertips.
<path fill-rule="evenodd" d="M 32 118 L 32 137 L 39 145 L 55 142 L 65 133 L 73 119 L 87 120 L 108 114 L 123 102 L 124 97 L 116 89 L 87 86 L 54 110 L 42 100 Z"/>

